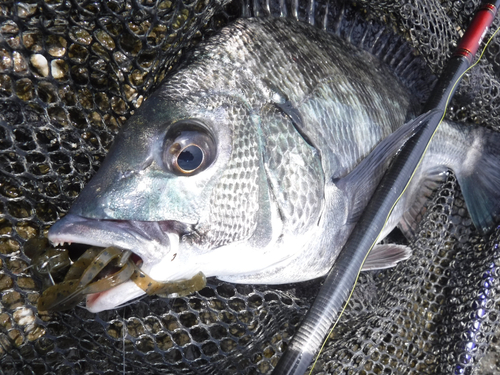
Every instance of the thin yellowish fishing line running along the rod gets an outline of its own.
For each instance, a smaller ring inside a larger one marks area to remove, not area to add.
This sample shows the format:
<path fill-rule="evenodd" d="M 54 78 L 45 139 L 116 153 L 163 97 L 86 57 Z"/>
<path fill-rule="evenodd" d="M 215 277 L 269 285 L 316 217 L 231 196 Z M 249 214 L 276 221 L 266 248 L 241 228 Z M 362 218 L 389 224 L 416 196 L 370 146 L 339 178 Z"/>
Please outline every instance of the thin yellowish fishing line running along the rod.
<path fill-rule="evenodd" d="M 454 82 L 453 84 L 453 88 L 452 90 L 450 91 L 450 93 L 448 94 L 448 97 L 446 99 L 446 105 L 444 107 L 444 111 L 443 111 L 443 115 L 441 116 L 441 119 L 439 120 L 437 126 L 436 126 L 436 129 L 434 130 L 434 132 L 432 133 L 432 136 L 430 137 L 429 141 L 427 142 L 427 145 L 424 149 L 424 152 L 422 153 L 422 156 L 420 157 L 419 161 L 418 161 L 418 164 L 416 166 L 416 168 L 413 170 L 408 182 L 406 183 L 403 191 L 401 192 L 401 194 L 398 196 L 398 198 L 396 199 L 396 201 L 394 202 L 394 204 L 392 205 L 387 217 L 385 218 L 385 222 L 384 222 L 384 225 L 382 226 L 382 229 L 380 230 L 377 238 L 375 239 L 375 241 L 372 243 L 372 245 L 370 246 L 370 249 L 368 250 L 368 252 L 366 253 L 364 259 L 363 259 L 363 262 L 361 263 L 361 266 L 359 267 L 359 270 L 358 270 L 358 273 L 356 275 L 356 279 L 354 281 L 354 285 L 353 287 L 351 288 L 351 292 L 349 293 L 349 296 L 347 297 L 347 300 L 343 306 L 343 308 L 340 310 L 340 313 L 339 313 L 339 316 L 337 317 L 337 319 L 335 320 L 335 323 L 333 324 L 333 327 L 330 329 L 330 331 L 328 332 L 328 335 L 326 336 L 325 340 L 323 341 L 323 344 L 321 345 L 321 348 L 319 349 L 319 352 L 318 354 L 316 355 L 316 358 L 312 364 L 312 367 L 311 367 L 311 370 L 309 371 L 309 375 L 312 374 L 312 371 L 314 370 L 314 367 L 316 366 L 316 363 L 318 362 L 318 359 L 320 357 L 320 354 L 322 353 L 328 339 L 330 338 L 330 335 L 332 334 L 333 330 L 336 328 L 338 322 L 340 321 L 340 318 L 342 317 L 342 315 L 344 314 L 344 311 L 346 310 L 347 308 L 347 305 L 349 304 L 350 300 L 351 300 L 351 297 L 354 293 L 354 289 L 356 288 L 356 285 L 359 281 L 359 276 L 361 274 L 361 270 L 363 268 L 363 265 L 365 264 L 366 262 L 366 259 L 368 258 L 368 255 L 370 255 L 370 252 L 372 251 L 373 247 L 378 243 L 379 241 L 379 238 L 380 238 L 380 235 L 382 234 L 382 231 L 385 227 L 385 225 L 387 224 L 387 222 L 389 221 L 389 217 L 391 216 L 392 214 L 392 211 L 394 210 L 394 207 L 396 207 L 396 204 L 399 202 L 399 200 L 401 199 L 401 197 L 403 196 L 403 194 L 406 192 L 406 189 L 408 188 L 408 186 L 410 185 L 417 169 L 420 167 L 420 164 L 422 163 L 422 160 L 425 156 L 425 154 L 427 153 L 427 150 L 429 148 L 429 145 L 432 141 L 432 139 L 434 138 L 434 135 L 436 134 L 436 132 L 438 131 L 439 129 L 439 126 L 441 125 L 441 123 L 443 122 L 445 116 L 446 116 L 446 110 L 448 109 L 448 105 L 449 105 L 449 102 L 450 102 L 450 98 L 451 96 L 453 95 L 453 92 L 455 91 L 455 87 L 457 86 L 457 84 L 460 82 L 460 80 L 462 79 L 462 77 L 465 75 L 465 73 L 467 73 L 469 70 L 471 70 L 472 68 L 474 68 L 478 63 L 479 61 L 481 61 L 481 59 L 483 58 L 483 55 L 484 53 L 486 52 L 486 49 L 488 48 L 489 44 L 491 43 L 491 41 L 493 40 L 493 38 L 495 37 L 495 35 L 500 31 L 500 27 L 498 27 L 495 32 L 491 35 L 491 37 L 488 39 L 488 41 L 486 42 L 486 44 L 484 45 L 482 51 L 481 51 L 481 54 L 479 55 L 479 58 L 476 60 L 476 62 L 474 64 L 472 64 L 470 67 L 468 67 Z"/>

